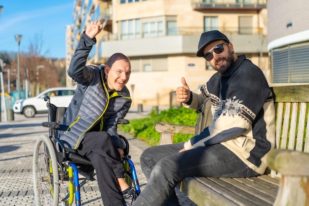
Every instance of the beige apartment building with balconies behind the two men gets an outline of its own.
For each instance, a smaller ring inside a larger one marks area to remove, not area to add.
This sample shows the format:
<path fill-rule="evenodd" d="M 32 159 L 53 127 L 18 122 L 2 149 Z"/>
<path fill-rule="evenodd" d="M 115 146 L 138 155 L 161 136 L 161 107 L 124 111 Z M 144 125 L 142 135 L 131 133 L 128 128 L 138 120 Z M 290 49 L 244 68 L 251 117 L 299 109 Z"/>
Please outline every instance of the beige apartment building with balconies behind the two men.
<path fill-rule="evenodd" d="M 266 0 L 75 0 L 67 64 L 82 31 L 98 19 L 104 31 L 88 64 L 105 65 L 116 52 L 128 56 L 127 87 L 135 106 L 170 105 L 182 77 L 191 89 L 209 80 L 215 71 L 195 55 L 205 31 L 225 33 L 235 52 L 245 53 L 270 79 L 266 5 Z M 67 85 L 72 83 L 68 79 Z"/>

